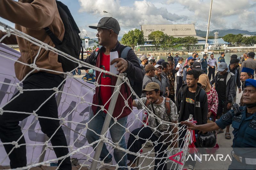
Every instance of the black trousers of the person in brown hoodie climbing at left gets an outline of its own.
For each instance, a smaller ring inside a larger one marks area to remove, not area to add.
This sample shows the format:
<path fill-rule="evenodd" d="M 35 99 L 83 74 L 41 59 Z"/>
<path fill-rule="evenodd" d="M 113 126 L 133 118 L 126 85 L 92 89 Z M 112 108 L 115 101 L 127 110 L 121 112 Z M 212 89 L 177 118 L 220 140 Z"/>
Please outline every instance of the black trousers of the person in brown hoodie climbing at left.
<path fill-rule="evenodd" d="M 58 75 L 38 72 L 25 79 L 23 82 L 23 89 L 50 89 L 53 87 L 58 87 L 62 81 L 63 78 Z M 7 111 L 32 113 L 33 111 L 36 111 L 39 106 L 53 94 L 53 92 L 54 91 L 52 90 L 24 91 L 22 94 L 17 92 L 14 96 L 18 95 L 18 97 L 3 107 L 4 113 L 3 115 L 0 115 L 1 141 L 3 143 L 17 141 L 22 135 L 19 121 L 22 121 L 29 116 L 29 114 L 8 113 Z M 58 118 L 58 107 L 55 96 L 53 95 L 49 100 L 47 100 L 46 103 L 40 107 L 38 111 L 36 111 L 36 114 L 38 116 Z M 42 132 L 48 137 L 52 137 L 52 146 L 67 146 L 66 137 L 62 128 L 60 127 L 59 120 L 38 118 L 38 121 L 40 123 Z M 25 144 L 25 138 L 21 137 L 18 144 Z M 15 145 L 4 144 L 4 148 L 7 153 L 11 152 L 13 147 L 15 147 Z M 54 147 L 53 150 L 57 158 L 68 154 L 67 147 Z M 9 155 L 9 159 L 11 168 L 27 166 L 26 146 L 21 145 L 20 147 L 15 148 Z M 62 160 L 58 161 L 58 165 L 61 161 Z M 60 165 L 60 169 L 71 170 L 71 162 L 69 157 L 63 160 Z"/>

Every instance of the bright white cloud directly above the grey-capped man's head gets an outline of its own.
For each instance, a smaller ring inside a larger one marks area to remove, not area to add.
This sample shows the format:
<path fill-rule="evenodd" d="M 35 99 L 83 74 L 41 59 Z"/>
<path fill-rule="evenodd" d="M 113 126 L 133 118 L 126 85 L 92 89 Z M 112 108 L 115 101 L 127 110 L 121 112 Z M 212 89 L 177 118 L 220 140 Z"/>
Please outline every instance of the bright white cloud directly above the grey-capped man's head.
<path fill-rule="evenodd" d="M 120 24 L 121 30 L 139 28 L 146 24 L 172 24 L 173 21 L 186 20 L 188 17 L 172 14 L 166 8 L 157 8 L 153 3 L 143 0 L 134 1 L 132 6 L 121 6 L 119 0 L 78 0 L 80 12 L 87 12 L 98 17 L 112 13 Z"/>

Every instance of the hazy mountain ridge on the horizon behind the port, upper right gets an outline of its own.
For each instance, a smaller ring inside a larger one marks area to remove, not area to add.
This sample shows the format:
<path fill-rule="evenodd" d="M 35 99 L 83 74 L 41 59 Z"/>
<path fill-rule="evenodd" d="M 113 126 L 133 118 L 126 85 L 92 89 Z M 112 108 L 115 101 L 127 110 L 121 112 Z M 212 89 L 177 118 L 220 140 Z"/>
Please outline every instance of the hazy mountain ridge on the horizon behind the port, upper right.
<path fill-rule="evenodd" d="M 228 30 L 213 30 L 210 31 L 209 36 L 214 36 L 214 33 L 219 31 L 219 37 L 223 37 L 229 33 L 232 34 L 249 34 L 249 35 L 255 35 L 256 32 L 249 32 L 249 31 L 245 31 L 245 30 L 239 30 L 239 29 L 228 29 Z M 199 37 L 205 37 L 206 36 L 206 31 L 202 31 L 202 30 L 196 30 L 196 35 Z"/>

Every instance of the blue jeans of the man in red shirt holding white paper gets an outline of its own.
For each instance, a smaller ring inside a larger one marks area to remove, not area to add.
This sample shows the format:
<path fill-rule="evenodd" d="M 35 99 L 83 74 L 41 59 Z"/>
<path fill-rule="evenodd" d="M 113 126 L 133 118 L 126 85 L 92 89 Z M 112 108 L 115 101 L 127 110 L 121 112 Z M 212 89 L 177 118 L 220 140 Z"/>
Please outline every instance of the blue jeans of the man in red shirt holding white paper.
<path fill-rule="evenodd" d="M 88 129 L 86 132 L 86 138 L 88 142 L 91 144 L 92 142 L 99 140 L 99 135 L 103 126 L 103 123 L 106 118 L 106 114 L 100 111 L 94 118 L 93 114 L 90 115 L 90 122 L 88 123 Z M 93 118 L 93 119 L 92 119 Z M 119 123 L 115 123 L 113 119 L 111 119 L 109 127 L 110 136 L 112 138 L 113 143 L 118 143 L 118 146 L 121 148 L 127 149 L 124 139 L 125 133 L 125 126 L 127 123 L 127 116 L 120 118 L 117 120 Z M 121 126 L 122 125 L 122 126 Z M 95 133 L 95 132 L 97 133 Z M 93 145 L 95 148 L 97 144 Z M 126 169 L 126 162 L 127 162 L 127 154 L 119 149 L 114 149 L 114 158 L 118 163 L 120 168 L 118 169 Z M 102 151 L 100 153 L 100 160 L 103 160 L 105 163 L 108 163 L 112 160 L 112 155 L 108 152 L 108 149 L 105 144 L 103 144 Z"/>

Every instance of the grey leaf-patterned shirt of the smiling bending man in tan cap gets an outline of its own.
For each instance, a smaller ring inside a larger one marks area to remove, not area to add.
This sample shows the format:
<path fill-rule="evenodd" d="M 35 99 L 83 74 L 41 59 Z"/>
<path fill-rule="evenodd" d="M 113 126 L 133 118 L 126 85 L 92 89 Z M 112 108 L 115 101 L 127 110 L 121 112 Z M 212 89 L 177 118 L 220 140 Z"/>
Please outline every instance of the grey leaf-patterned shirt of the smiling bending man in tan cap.
<path fill-rule="evenodd" d="M 140 100 L 142 101 L 142 103 L 146 104 L 147 98 L 143 97 L 143 98 L 140 98 Z M 141 105 L 141 103 L 138 100 L 134 100 L 134 101 L 135 101 L 138 109 L 143 108 L 143 105 Z M 171 112 L 170 112 L 169 116 L 167 115 L 167 110 L 168 109 L 165 108 L 165 97 L 164 97 L 164 100 L 163 100 L 162 103 L 157 104 L 157 105 L 153 104 L 153 107 L 155 109 L 155 112 L 156 112 L 156 115 L 157 115 L 158 118 L 160 118 L 161 120 L 164 120 L 166 122 L 175 122 L 175 121 L 178 120 L 177 107 L 173 103 L 172 100 L 170 100 L 169 103 L 170 103 L 170 109 L 171 109 Z M 151 106 L 150 103 L 148 103 L 147 107 L 148 107 L 149 110 L 151 110 L 153 112 L 153 109 L 152 109 L 152 106 Z M 158 119 L 157 121 L 160 124 L 160 120 Z M 155 115 L 153 113 L 148 113 L 148 126 L 151 127 L 151 128 L 157 127 Z M 168 125 L 166 123 L 163 123 L 163 124 L 158 126 L 158 128 L 157 128 L 158 131 L 155 131 L 154 129 L 151 129 L 151 131 L 157 137 L 159 137 L 160 136 L 159 131 L 163 131 L 163 130 L 167 130 L 167 129 L 168 129 Z"/>

